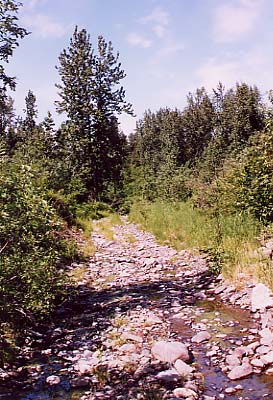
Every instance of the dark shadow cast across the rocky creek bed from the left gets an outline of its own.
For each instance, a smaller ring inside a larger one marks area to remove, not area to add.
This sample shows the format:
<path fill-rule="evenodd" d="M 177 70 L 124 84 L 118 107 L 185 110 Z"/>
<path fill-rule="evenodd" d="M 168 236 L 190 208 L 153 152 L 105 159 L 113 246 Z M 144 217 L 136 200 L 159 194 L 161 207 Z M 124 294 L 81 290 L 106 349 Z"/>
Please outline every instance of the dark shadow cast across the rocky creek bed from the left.
<path fill-rule="evenodd" d="M 67 352 L 78 350 L 84 343 L 90 343 L 89 350 L 103 349 L 101 334 L 111 326 L 111 319 L 117 313 L 126 313 L 141 306 L 147 309 L 169 309 L 175 301 L 183 305 L 193 305 L 200 290 L 206 289 L 214 277 L 205 272 L 196 277 L 185 277 L 183 280 L 166 278 L 155 282 L 141 282 L 125 287 L 114 286 L 97 291 L 89 286 L 79 286 L 73 297 L 63 304 L 54 316 L 53 321 L 45 326 L 40 325 L 34 332 L 31 344 L 31 359 L 28 367 L 22 369 L 21 376 L 1 385 L 1 400 L 48 400 L 78 399 L 77 393 L 72 396 L 69 380 L 71 378 L 71 361 L 67 360 Z M 51 349 L 46 355 L 43 350 Z M 64 358 L 60 352 L 64 352 Z M 57 356 L 58 354 L 58 356 Z M 35 366 L 38 365 L 38 368 Z M 35 373 L 33 373 L 35 370 Z M 115 372 L 114 372 L 115 373 Z M 133 388 L 139 390 L 143 382 L 136 381 L 132 373 L 119 372 L 117 395 L 130 397 Z M 61 376 L 61 383 L 48 389 L 46 378 L 49 375 Z M 108 383 L 113 386 L 113 376 L 105 375 L 92 390 L 101 389 Z M 116 377 L 115 377 L 116 379 Z M 83 390 L 86 391 L 85 388 Z M 89 388 L 90 390 L 90 388 Z M 152 389 L 151 389 L 152 390 Z M 108 398 L 108 397 L 105 397 Z M 148 397 L 149 398 L 149 397 Z M 153 397 L 154 399 L 154 397 Z"/>

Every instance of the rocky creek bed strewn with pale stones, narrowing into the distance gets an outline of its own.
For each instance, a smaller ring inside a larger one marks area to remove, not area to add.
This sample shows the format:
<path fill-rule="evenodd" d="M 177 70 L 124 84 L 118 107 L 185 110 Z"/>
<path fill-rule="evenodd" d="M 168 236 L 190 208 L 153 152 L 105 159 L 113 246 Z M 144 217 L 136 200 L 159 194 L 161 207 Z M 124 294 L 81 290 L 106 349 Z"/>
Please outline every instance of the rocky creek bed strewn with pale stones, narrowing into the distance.
<path fill-rule="evenodd" d="M 236 292 L 204 258 L 126 220 L 113 229 L 95 229 L 96 254 L 72 266 L 77 295 L 32 333 L 21 387 L 3 384 L 0 399 L 273 399 L 269 304 L 247 310 L 259 286 Z"/>

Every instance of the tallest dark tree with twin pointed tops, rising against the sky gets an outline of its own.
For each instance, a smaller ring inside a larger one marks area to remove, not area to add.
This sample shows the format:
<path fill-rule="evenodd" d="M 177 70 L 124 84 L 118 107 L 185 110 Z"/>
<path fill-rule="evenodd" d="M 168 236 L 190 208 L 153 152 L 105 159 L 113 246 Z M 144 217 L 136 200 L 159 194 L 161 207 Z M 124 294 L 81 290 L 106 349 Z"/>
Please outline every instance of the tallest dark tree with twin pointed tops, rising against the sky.
<path fill-rule="evenodd" d="M 123 157 L 124 139 L 118 131 L 117 115 L 132 114 L 125 101 L 120 81 L 125 77 L 119 55 L 111 42 L 98 37 L 95 53 L 85 29 L 75 28 L 67 50 L 57 67 L 62 84 L 57 85 L 60 100 L 57 110 L 68 120 L 59 140 L 65 142 L 70 162 L 77 166 L 86 196 L 98 199 L 110 182 L 115 182 L 116 168 Z"/>

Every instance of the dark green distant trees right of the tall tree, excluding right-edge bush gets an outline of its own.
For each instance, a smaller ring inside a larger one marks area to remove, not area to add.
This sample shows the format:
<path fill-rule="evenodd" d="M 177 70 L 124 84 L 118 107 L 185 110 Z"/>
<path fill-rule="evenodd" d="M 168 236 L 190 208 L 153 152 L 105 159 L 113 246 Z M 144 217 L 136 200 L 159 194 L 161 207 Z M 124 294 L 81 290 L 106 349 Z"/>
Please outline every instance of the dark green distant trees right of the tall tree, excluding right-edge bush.
<path fill-rule="evenodd" d="M 185 198 L 197 177 L 202 185 L 214 180 L 226 158 L 240 154 L 264 124 L 260 93 L 245 83 L 229 90 L 220 83 L 211 96 L 197 89 L 182 111 L 147 111 L 129 138 L 132 174 L 137 169 L 142 176 L 138 193 Z"/>

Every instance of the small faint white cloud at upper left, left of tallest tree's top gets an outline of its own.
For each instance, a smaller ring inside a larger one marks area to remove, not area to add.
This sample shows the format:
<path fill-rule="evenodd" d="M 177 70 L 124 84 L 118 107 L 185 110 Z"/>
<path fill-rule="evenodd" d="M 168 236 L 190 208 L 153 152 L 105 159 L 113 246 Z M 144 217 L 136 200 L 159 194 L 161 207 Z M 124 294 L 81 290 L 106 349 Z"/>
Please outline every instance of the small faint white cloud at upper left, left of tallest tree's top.
<path fill-rule="evenodd" d="M 22 21 L 32 33 L 44 39 L 48 37 L 63 37 L 70 30 L 70 26 L 54 21 L 45 14 L 25 14 L 22 17 Z"/>

